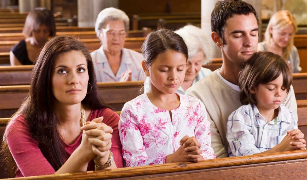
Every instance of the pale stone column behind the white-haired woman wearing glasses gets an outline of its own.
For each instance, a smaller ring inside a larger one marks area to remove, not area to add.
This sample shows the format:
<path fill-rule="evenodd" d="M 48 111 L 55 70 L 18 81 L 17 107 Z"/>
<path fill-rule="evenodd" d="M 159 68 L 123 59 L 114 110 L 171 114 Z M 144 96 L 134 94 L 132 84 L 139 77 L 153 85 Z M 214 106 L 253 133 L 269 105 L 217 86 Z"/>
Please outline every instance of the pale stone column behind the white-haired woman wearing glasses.
<path fill-rule="evenodd" d="M 78 0 L 78 26 L 94 27 L 97 15 L 107 7 L 118 8 L 118 0 Z"/>

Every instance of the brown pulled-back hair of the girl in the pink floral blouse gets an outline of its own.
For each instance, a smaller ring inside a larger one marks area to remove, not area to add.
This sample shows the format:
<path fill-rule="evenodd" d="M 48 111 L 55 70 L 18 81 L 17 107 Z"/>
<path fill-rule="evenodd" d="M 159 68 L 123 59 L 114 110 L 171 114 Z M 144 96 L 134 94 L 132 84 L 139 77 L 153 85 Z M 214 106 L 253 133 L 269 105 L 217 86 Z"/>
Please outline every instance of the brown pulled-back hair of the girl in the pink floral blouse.
<path fill-rule="evenodd" d="M 188 47 L 180 35 L 169 29 L 158 29 L 150 32 L 142 45 L 142 54 L 146 65 L 150 66 L 158 54 L 166 50 L 183 53 L 185 58 L 188 59 Z"/>

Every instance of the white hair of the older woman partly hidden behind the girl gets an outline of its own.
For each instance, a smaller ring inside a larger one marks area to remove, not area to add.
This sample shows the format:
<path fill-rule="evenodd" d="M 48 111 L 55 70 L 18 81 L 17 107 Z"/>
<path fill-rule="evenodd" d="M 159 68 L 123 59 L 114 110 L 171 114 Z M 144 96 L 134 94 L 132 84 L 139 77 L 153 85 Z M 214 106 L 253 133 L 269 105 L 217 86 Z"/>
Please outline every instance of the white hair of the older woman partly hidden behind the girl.
<path fill-rule="evenodd" d="M 196 26 L 186 25 L 174 32 L 183 38 L 188 47 L 188 61 L 201 50 L 205 55 L 203 64 L 208 64 L 210 62 L 212 51 L 204 31 Z"/>

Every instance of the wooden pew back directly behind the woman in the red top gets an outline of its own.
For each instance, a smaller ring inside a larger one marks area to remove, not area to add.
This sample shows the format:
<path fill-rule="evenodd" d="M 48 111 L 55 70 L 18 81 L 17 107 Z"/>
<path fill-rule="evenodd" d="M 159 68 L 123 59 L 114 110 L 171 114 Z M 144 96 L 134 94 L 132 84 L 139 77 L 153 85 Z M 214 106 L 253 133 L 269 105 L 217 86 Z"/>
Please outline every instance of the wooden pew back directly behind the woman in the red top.
<path fill-rule="evenodd" d="M 100 98 L 115 111 L 141 94 L 143 81 L 98 83 Z M 30 85 L 0 86 L 0 118 L 10 117 L 28 95 Z"/>

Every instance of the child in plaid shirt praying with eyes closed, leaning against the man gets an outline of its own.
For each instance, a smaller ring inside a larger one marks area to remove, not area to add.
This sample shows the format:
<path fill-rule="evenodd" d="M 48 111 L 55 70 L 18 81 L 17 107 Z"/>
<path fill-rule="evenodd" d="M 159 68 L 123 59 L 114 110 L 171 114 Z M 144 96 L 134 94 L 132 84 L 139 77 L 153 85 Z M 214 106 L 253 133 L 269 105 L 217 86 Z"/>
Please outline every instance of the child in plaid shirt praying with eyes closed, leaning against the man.
<path fill-rule="evenodd" d="M 258 52 L 239 74 L 243 104 L 227 122 L 229 156 L 305 149 L 297 119 L 282 103 L 292 83 L 286 62 L 274 53 Z"/>

